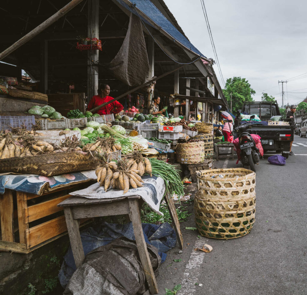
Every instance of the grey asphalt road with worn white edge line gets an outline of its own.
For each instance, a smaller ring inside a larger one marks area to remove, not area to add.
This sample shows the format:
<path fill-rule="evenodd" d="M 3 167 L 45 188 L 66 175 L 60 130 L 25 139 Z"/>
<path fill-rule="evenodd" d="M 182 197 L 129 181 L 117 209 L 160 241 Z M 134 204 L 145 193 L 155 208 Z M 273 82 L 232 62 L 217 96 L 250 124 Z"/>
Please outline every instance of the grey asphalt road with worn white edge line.
<path fill-rule="evenodd" d="M 295 135 L 294 156 L 286 165 L 271 165 L 268 152 L 256 166 L 256 221 L 237 239 L 198 237 L 194 215 L 181 222 L 184 249 L 178 245 L 158 269 L 159 294 L 177 284 L 180 295 L 307 294 L 307 139 Z M 239 167 L 232 160 L 217 168 Z M 193 212 L 193 202 L 188 205 Z M 193 248 L 209 244 L 211 253 Z M 174 262 L 174 259 L 182 259 Z"/>

